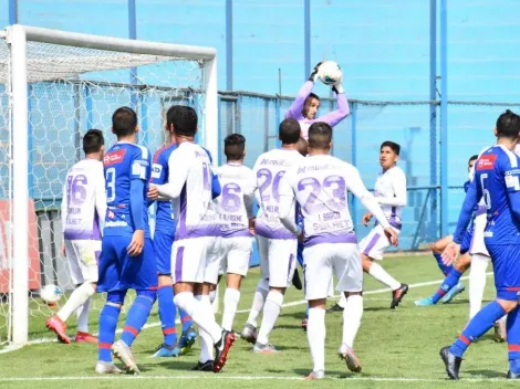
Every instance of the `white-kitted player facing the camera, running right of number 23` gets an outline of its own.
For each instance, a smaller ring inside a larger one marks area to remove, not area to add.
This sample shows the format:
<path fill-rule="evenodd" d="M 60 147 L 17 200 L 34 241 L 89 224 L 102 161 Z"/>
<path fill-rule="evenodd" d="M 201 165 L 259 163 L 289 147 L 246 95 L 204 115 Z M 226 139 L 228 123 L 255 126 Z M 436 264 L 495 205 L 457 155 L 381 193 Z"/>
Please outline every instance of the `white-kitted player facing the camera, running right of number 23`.
<path fill-rule="evenodd" d="M 403 169 L 397 166 L 399 153 L 401 146 L 398 144 L 389 140 L 383 141 L 379 148 L 379 165 L 383 171 L 377 177 L 374 187 L 375 200 L 383 208 L 388 223 L 397 234 L 401 233 L 401 215 L 407 200 L 406 176 Z M 365 213 L 363 224 L 367 227 L 371 219 L 372 213 Z M 376 223 L 368 235 L 361 241 L 360 251 L 363 271 L 392 290 L 391 309 L 395 309 L 408 292 L 408 285 L 396 281 L 379 264 L 374 263 L 374 260 L 383 260 L 383 254 L 389 244 L 383 227 Z"/>

